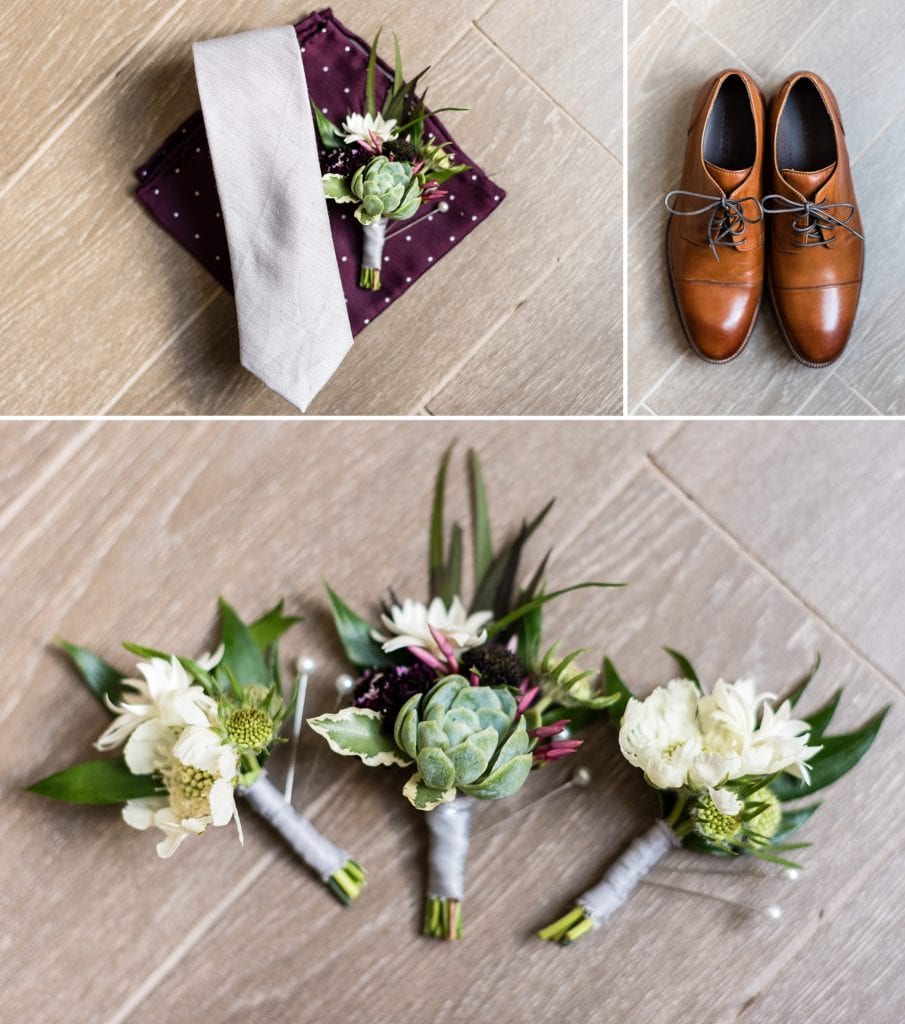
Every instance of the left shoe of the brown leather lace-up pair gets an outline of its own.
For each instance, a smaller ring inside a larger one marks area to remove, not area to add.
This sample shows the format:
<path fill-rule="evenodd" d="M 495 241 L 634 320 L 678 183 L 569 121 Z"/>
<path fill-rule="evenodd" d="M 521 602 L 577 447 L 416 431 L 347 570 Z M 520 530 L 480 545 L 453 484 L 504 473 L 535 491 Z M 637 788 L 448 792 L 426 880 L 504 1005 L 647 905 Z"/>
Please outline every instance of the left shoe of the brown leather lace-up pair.
<path fill-rule="evenodd" d="M 764 290 L 764 97 L 724 71 L 695 100 L 682 187 L 666 197 L 670 281 L 691 347 L 728 362 L 750 337 Z"/>

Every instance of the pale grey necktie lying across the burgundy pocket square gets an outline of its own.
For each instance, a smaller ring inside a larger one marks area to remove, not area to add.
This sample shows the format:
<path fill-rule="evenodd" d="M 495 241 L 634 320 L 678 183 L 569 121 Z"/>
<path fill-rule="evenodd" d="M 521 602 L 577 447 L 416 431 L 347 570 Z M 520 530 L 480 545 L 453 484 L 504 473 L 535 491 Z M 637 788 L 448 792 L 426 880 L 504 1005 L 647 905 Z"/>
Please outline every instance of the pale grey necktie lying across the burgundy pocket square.
<path fill-rule="evenodd" d="M 292 26 L 196 43 L 242 365 L 304 410 L 352 345 Z"/>

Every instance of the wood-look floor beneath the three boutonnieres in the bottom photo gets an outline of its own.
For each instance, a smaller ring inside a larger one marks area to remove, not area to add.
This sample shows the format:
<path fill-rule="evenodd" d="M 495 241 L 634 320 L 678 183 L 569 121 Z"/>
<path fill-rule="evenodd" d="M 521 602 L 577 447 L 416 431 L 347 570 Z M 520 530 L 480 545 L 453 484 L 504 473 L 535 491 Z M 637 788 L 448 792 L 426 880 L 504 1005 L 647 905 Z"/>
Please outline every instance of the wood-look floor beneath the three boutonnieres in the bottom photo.
<path fill-rule="evenodd" d="M 609 651 L 639 691 L 671 673 L 660 644 L 686 650 L 705 679 L 750 673 L 778 690 L 819 651 L 807 707 L 845 685 L 846 728 L 894 705 L 808 824 L 799 883 L 682 852 L 652 877 L 779 902 L 781 921 L 646 885 L 578 945 L 533 938 L 655 813 L 605 726 L 575 759 L 590 788 L 569 786 L 561 764 L 479 808 L 466 937 L 451 945 L 417 934 L 425 836 L 402 774 L 318 757 L 310 732 L 298 803 L 370 870 L 348 909 L 249 814 L 244 849 L 216 829 L 162 862 L 116 810 L 20 792 L 90 755 L 105 721 L 54 653 L 57 635 L 110 658 L 125 638 L 190 652 L 211 640 L 219 593 L 249 615 L 284 594 L 306 617 L 284 653 L 317 659 L 308 712 L 330 709 L 343 665 L 319 582 L 362 609 L 390 584 L 422 593 L 430 480 L 454 437 L 458 508 L 474 444 L 498 528 L 559 496 L 532 549 L 555 542 L 551 585 L 631 584 L 553 605 L 548 637 Z M 0 990 L 11 1019 L 900 1024 L 905 433 L 547 422 L 525 441 L 517 423 L 0 424 Z"/>

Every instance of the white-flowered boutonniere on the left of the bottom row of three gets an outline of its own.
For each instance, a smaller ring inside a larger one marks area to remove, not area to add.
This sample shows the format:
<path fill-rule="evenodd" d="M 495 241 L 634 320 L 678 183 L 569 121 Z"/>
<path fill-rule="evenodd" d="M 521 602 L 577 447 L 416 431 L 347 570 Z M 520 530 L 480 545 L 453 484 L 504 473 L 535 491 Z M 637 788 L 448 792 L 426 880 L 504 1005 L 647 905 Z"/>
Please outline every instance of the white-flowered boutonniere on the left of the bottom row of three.
<path fill-rule="evenodd" d="M 95 748 L 122 754 L 73 765 L 30 790 L 74 804 L 123 804 L 126 824 L 161 834 L 157 853 L 164 858 L 210 827 L 234 823 L 242 841 L 239 796 L 350 903 L 364 883 L 360 866 L 292 808 L 290 795 L 264 769 L 298 697 L 298 680 L 284 695 L 278 656 L 279 638 L 297 622 L 284 614 L 282 601 L 250 624 L 221 601 L 213 654 L 177 657 L 127 643 L 141 658 L 133 676 L 63 642 L 88 689 L 113 715 Z"/>

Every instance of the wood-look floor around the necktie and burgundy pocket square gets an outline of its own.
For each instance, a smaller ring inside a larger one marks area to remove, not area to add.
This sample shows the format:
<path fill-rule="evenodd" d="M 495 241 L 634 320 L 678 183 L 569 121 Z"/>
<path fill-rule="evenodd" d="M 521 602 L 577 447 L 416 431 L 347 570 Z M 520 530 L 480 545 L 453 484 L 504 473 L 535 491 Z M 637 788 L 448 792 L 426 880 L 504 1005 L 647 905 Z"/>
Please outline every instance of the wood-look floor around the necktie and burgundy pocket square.
<path fill-rule="evenodd" d="M 133 169 L 198 108 L 190 45 L 298 0 L 5 0 L 0 414 L 292 414 L 239 367 L 232 300 Z M 618 0 L 340 0 L 394 30 L 509 198 L 357 339 L 321 414 L 621 412 Z"/>

